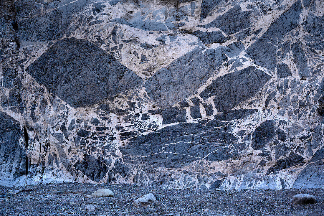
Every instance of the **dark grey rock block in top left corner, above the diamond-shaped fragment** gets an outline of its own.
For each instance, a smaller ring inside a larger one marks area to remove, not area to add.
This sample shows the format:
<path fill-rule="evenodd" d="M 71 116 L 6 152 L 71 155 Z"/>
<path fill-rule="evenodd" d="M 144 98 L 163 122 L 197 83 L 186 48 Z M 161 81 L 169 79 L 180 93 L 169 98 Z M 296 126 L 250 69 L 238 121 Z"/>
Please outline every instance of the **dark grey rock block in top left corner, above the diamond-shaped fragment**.
<path fill-rule="evenodd" d="M 55 40 L 64 34 L 70 35 L 74 30 L 70 23 L 86 3 L 86 0 L 53 1 L 48 4 L 31 4 L 29 0 L 17 2 L 19 41 Z M 42 11 L 47 11 L 46 16 L 39 16 Z"/>

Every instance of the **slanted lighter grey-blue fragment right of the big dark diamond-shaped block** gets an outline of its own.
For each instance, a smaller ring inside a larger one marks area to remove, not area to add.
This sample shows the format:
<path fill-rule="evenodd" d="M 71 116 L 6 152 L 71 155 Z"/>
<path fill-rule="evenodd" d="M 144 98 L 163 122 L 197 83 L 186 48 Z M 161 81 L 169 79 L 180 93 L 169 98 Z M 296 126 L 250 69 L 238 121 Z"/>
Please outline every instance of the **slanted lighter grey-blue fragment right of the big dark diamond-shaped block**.
<path fill-rule="evenodd" d="M 225 60 L 220 49 L 203 53 L 197 48 L 158 70 L 145 82 L 148 96 L 160 107 L 170 106 L 194 93 Z"/>

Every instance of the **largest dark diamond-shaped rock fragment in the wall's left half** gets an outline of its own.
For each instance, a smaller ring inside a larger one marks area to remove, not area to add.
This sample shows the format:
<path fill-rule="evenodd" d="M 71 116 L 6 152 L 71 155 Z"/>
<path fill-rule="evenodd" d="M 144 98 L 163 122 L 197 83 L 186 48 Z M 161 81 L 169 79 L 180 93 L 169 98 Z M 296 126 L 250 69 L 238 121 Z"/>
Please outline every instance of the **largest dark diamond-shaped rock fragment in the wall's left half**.
<path fill-rule="evenodd" d="M 142 83 L 102 49 L 75 38 L 55 43 L 26 71 L 48 92 L 74 107 L 95 104 Z"/>

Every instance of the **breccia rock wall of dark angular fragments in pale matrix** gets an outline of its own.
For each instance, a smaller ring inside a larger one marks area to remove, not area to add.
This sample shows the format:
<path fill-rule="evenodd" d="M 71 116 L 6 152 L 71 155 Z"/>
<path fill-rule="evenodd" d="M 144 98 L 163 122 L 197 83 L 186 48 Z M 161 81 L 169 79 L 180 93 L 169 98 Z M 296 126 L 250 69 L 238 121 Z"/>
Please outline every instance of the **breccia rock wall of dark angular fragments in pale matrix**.
<path fill-rule="evenodd" d="M 0 184 L 324 187 L 322 0 L 0 2 Z"/>

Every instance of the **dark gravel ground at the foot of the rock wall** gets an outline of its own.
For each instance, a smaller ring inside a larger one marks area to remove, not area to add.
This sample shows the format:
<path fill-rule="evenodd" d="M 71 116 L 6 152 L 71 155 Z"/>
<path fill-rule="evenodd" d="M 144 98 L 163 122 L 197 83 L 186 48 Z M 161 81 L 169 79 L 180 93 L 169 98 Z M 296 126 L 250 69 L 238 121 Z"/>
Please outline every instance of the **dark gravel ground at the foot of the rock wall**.
<path fill-rule="evenodd" d="M 112 190 L 115 197 L 86 198 L 86 195 L 91 195 L 100 188 Z M 19 192 L 9 193 L 10 190 Z M 154 194 L 158 204 L 134 208 L 133 199 L 148 193 Z M 301 190 L 301 193 L 316 196 L 316 204 L 290 203 L 289 199 L 297 193 L 299 190 L 296 189 L 208 191 L 129 184 L 66 183 L 16 188 L 0 186 L 0 195 L 4 195 L 4 198 L 0 198 L 0 215 L 324 215 L 323 189 Z M 94 205 L 95 210 L 85 210 L 88 204 Z M 120 208 L 114 209 L 115 206 Z"/>

